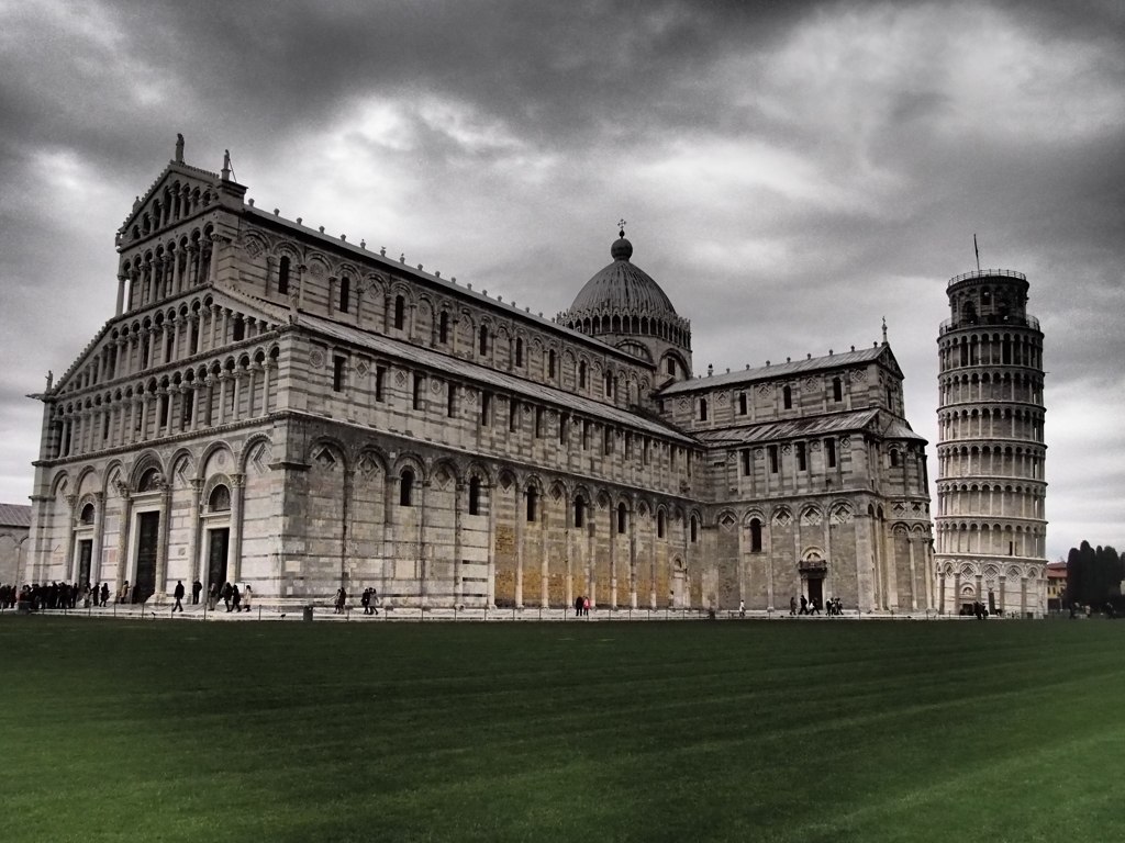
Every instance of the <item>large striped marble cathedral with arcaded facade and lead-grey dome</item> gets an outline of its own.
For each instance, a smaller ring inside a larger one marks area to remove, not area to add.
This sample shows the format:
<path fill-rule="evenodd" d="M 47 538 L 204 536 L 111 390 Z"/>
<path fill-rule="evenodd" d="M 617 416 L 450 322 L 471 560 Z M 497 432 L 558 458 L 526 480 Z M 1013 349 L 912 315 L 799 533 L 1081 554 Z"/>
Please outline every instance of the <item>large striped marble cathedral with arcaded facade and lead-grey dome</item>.
<path fill-rule="evenodd" d="M 196 579 L 277 607 L 946 599 L 885 336 L 696 377 L 623 232 L 550 319 L 245 193 L 181 138 L 118 229 L 115 312 L 35 396 L 22 581 L 155 605 Z"/>

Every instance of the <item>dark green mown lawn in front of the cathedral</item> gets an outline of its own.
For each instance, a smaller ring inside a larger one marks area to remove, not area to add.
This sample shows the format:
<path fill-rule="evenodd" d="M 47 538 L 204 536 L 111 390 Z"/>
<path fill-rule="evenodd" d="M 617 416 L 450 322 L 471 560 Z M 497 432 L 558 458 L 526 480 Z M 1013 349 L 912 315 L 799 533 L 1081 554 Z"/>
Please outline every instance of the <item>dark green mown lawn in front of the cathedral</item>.
<path fill-rule="evenodd" d="M 1125 840 L 1125 623 L 0 617 L 6 841 Z"/>

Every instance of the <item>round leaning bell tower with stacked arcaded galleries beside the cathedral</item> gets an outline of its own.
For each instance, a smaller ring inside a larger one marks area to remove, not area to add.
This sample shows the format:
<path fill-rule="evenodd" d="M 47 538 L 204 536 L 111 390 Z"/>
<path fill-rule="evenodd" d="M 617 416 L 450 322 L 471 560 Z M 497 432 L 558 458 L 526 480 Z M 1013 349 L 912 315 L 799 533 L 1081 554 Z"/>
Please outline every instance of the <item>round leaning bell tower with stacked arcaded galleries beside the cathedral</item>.
<path fill-rule="evenodd" d="M 950 280 L 938 336 L 938 608 L 974 601 L 1005 617 L 1046 610 L 1043 334 L 1027 277 Z"/>

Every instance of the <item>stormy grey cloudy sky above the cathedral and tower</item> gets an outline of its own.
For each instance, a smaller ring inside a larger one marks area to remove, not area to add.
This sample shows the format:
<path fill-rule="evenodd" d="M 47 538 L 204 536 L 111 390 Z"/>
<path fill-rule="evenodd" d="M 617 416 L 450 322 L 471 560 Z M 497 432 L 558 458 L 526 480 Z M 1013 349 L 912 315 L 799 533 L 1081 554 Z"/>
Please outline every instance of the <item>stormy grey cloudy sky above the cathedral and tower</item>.
<path fill-rule="evenodd" d="M 1027 273 L 1048 555 L 1125 547 L 1125 7 L 0 0 L 0 500 L 187 138 L 259 207 L 555 314 L 633 261 L 696 372 L 880 337 L 935 442 L 945 284 Z M 936 465 L 933 446 L 930 464 Z"/>

